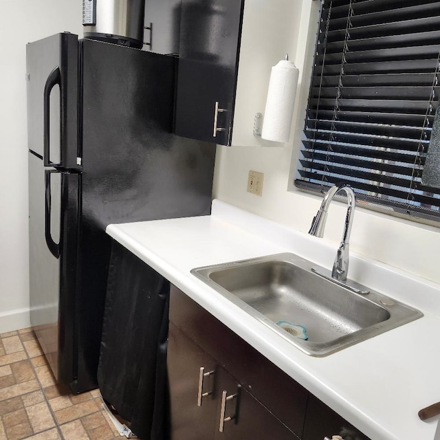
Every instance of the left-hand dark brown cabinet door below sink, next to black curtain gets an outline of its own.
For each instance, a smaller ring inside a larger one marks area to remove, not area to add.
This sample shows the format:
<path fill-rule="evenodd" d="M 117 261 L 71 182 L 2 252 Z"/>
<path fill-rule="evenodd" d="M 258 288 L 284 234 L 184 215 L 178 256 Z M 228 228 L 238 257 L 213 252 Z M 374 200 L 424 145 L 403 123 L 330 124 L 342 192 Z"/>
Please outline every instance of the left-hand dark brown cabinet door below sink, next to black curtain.
<path fill-rule="evenodd" d="M 170 387 L 170 438 L 214 439 L 218 406 L 215 389 L 217 365 L 172 323 L 168 331 L 167 368 Z M 202 378 L 201 368 L 204 369 Z M 200 398 L 199 393 L 209 394 Z"/>

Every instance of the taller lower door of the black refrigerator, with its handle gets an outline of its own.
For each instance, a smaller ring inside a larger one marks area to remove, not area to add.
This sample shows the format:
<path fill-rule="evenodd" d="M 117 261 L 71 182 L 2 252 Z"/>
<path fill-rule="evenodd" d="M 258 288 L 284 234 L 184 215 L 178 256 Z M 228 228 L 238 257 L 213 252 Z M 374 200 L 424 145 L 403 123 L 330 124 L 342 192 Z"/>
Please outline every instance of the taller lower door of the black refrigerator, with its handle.
<path fill-rule="evenodd" d="M 80 175 L 29 153 L 30 319 L 58 382 L 74 380 Z"/>

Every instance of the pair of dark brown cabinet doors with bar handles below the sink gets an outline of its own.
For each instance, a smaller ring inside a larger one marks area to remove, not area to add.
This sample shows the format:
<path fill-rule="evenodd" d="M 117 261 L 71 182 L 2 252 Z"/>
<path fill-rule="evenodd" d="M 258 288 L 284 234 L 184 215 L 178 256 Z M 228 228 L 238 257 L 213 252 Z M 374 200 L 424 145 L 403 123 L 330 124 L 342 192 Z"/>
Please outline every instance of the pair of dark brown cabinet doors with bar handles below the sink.
<path fill-rule="evenodd" d="M 175 325 L 168 342 L 171 439 L 298 439 Z"/>

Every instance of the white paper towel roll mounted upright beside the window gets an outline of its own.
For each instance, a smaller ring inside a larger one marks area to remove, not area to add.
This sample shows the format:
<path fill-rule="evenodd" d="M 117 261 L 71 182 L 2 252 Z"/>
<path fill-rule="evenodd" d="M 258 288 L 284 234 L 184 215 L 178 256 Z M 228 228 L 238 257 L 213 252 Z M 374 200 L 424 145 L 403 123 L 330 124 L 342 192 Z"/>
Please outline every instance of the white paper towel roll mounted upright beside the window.
<path fill-rule="evenodd" d="M 292 61 L 280 61 L 272 67 L 267 90 L 261 137 L 287 142 L 292 126 L 299 71 Z"/>

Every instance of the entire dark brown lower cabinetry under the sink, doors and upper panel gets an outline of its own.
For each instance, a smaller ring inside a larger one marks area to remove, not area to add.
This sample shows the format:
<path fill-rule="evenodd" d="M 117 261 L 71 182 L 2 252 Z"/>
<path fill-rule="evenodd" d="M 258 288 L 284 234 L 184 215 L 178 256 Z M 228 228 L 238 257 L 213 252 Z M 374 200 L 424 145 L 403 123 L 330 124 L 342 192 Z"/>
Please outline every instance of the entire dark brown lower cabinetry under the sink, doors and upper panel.
<path fill-rule="evenodd" d="M 369 440 L 173 285 L 167 368 L 171 440 Z"/>

